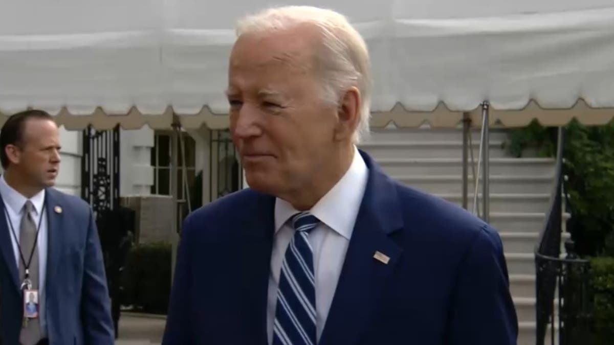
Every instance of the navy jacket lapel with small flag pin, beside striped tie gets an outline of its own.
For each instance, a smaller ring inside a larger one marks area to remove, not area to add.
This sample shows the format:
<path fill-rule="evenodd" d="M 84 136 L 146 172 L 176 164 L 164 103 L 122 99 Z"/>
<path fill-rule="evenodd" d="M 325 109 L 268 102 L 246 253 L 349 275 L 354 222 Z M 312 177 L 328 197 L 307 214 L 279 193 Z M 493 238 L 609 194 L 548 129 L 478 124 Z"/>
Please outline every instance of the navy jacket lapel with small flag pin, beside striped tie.
<path fill-rule="evenodd" d="M 396 187 L 365 153 L 360 153 L 369 168 L 367 188 L 320 345 L 353 345 L 359 341 L 402 254 L 391 238 L 403 227 Z"/>

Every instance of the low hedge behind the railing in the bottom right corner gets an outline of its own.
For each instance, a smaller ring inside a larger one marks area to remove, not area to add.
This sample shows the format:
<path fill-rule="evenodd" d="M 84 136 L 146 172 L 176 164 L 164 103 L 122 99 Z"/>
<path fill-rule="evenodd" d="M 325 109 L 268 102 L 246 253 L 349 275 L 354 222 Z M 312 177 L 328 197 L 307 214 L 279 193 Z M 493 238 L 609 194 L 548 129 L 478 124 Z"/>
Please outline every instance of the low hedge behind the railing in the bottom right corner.
<path fill-rule="evenodd" d="M 594 341 L 611 345 L 614 339 L 614 257 L 591 259 Z"/>

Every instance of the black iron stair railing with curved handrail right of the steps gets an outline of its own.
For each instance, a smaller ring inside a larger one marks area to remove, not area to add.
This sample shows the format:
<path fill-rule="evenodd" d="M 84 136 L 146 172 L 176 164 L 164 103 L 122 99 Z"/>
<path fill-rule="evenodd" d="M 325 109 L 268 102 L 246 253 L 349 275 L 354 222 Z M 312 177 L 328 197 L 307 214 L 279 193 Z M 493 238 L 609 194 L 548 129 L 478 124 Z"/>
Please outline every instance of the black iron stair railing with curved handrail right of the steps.
<path fill-rule="evenodd" d="M 563 142 L 564 131 L 559 128 L 550 209 L 535 247 L 537 345 L 546 341 L 552 345 L 590 344 L 589 262 L 573 253 L 570 239 L 565 242 L 567 254 L 561 255 Z"/>

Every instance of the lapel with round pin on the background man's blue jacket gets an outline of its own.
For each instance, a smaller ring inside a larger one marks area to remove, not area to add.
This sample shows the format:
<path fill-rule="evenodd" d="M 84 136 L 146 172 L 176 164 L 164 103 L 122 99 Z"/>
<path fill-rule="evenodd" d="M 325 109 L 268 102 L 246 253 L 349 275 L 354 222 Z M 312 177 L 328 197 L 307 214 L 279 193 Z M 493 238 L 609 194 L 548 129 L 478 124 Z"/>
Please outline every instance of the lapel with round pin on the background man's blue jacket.
<path fill-rule="evenodd" d="M 52 188 L 45 190 L 47 211 L 47 276 L 45 287 L 49 291 L 49 286 L 53 283 L 53 277 L 60 266 L 60 253 L 62 249 L 61 236 L 62 223 L 64 219 L 64 207 L 60 203 L 58 195 Z M 60 211 L 60 212 L 58 212 Z"/>

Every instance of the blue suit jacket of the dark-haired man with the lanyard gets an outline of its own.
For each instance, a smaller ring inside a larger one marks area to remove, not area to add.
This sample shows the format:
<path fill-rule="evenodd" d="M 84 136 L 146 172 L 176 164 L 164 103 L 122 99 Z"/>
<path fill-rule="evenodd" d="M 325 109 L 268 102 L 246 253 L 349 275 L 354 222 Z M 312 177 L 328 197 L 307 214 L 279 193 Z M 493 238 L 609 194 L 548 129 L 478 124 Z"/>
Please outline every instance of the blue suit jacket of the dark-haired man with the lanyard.
<path fill-rule="evenodd" d="M 112 345 L 115 333 L 103 256 L 90 206 L 47 188 L 47 335 L 52 345 Z M 61 212 L 55 212 L 56 206 Z M 0 197 L 0 343 L 18 344 L 23 302 Z"/>

